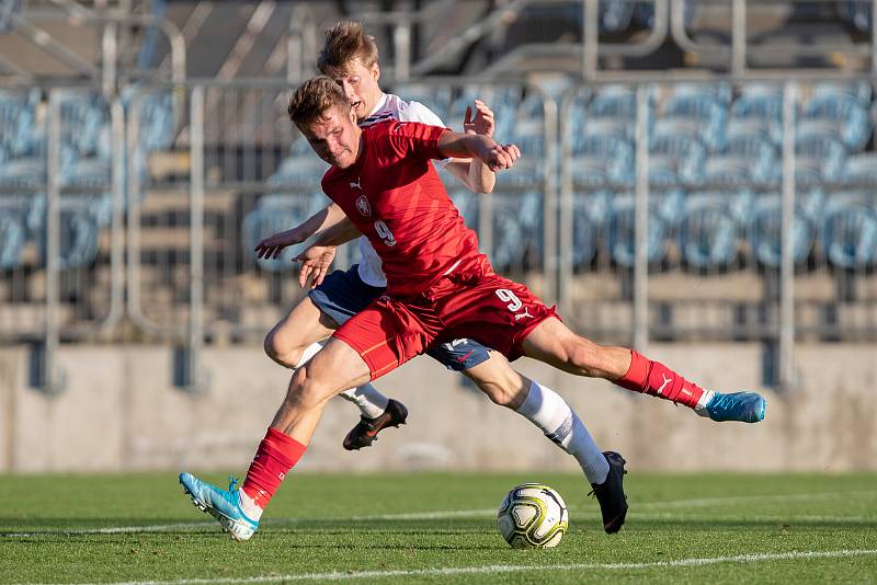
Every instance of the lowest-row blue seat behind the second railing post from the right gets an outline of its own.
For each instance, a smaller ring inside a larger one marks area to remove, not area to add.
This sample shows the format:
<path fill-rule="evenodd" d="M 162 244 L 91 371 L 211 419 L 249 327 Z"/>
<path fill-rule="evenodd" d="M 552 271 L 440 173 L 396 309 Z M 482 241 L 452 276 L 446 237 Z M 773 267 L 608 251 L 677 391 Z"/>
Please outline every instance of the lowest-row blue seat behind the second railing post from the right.
<path fill-rule="evenodd" d="M 631 195 L 616 195 L 612 202 L 607 223 L 610 256 L 619 266 L 630 268 L 636 260 L 635 203 Z M 646 256 L 650 264 L 660 263 L 667 256 L 668 226 L 652 206 L 649 209 L 646 236 Z"/>

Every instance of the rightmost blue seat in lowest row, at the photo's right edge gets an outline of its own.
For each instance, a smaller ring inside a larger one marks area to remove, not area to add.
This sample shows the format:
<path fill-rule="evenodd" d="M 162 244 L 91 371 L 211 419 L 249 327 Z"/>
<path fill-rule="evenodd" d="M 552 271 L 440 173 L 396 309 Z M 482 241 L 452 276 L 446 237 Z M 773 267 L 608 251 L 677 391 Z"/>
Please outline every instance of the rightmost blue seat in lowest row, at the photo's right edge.
<path fill-rule="evenodd" d="M 833 196 L 825 205 L 822 248 L 839 268 L 861 269 L 877 263 L 877 208 L 858 193 Z"/>

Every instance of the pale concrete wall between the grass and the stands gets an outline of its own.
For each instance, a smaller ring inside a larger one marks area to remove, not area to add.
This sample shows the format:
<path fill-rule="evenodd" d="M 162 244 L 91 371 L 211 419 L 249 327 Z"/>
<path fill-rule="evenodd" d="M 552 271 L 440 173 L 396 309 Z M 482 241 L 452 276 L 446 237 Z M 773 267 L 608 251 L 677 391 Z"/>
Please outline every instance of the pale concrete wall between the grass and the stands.
<path fill-rule="evenodd" d="M 759 388 L 761 349 L 747 344 L 654 344 L 649 351 L 707 388 Z M 868 345 L 800 346 L 800 385 L 766 392 L 764 423 L 714 423 L 685 408 L 576 378 L 528 359 L 522 372 L 560 392 L 597 445 L 637 470 L 875 470 L 877 352 Z M 0 472 L 234 470 L 243 473 L 286 390 L 288 372 L 261 347 L 208 348 L 209 389 L 171 385 L 164 346 L 62 346 L 67 389 L 27 388 L 27 351 L 0 351 Z M 410 410 L 409 424 L 372 448 L 341 439 L 358 417 L 333 399 L 301 470 L 576 470 L 525 420 L 493 405 L 421 357 L 379 380 Z"/>

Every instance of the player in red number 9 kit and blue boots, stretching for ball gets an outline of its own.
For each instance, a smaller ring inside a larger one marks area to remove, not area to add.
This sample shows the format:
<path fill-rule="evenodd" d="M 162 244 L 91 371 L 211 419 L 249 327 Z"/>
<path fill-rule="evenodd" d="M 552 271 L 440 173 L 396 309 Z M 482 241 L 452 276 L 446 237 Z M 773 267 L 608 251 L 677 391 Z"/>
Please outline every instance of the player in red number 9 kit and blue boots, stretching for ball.
<path fill-rule="evenodd" d="M 296 90 L 289 116 L 332 165 L 323 191 L 377 250 L 388 286 L 293 375 L 241 490 L 221 491 L 181 474 L 186 492 L 232 538 L 247 540 L 258 529 L 262 511 L 304 455 L 330 398 L 446 340 L 472 337 L 510 359 L 526 355 L 692 409 L 734 397 L 729 404 L 749 409 L 749 422 L 763 418 L 759 394 L 706 391 L 637 352 L 599 346 L 570 331 L 525 286 L 493 273 L 430 159 L 478 158 L 496 172 L 514 164 L 516 147 L 418 123 L 358 128 L 344 92 L 327 77 Z"/>

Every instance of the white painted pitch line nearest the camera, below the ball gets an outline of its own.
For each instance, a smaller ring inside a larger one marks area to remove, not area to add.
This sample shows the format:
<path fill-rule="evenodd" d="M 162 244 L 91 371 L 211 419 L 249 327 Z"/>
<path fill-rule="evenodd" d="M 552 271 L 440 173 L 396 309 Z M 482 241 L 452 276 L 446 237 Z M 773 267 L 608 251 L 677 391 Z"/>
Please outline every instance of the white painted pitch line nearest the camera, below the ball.
<path fill-rule="evenodd" d="M 808 559 L 840 559 L 848 557 L 877 555 L 877 549 L 843 549 L 834 551 L 795 551 L 737 554 L 732 557 L 708 557 L 703 559 L 679 559 L 652 563 L 574 563 L 551 565 L 494 564 L 482 566 L 435 567 L 390 571 L 351 571 L 345 573 L 301 573 L 293 575 L 264 575 L 255 577 L 181 578 L 176 581 L 129 581 L 104 585 L 201 585 L 227 583 L 287 583 L 292 581 L 352 581 L 381 577 L 433 577 L 456 575 L 489 575 L 498 573 L 525 573 L 531 571 L 636 571 L 642 569 L 674 569 L 707 566 L 719 563 L 758 563 L 765 561 L 789 561 Z M 80 584 L 91 585 L 91 584 Z"/>

